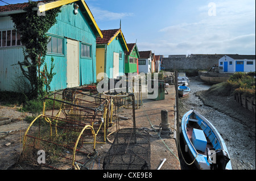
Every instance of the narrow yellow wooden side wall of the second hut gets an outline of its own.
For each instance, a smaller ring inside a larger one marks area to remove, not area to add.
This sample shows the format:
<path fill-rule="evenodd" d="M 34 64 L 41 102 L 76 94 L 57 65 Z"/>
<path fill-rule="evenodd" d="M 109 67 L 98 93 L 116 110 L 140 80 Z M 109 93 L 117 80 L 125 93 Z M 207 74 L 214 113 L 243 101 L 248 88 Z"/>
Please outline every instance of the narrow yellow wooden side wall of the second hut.
<path fill-rule="evenodd" d="M 96 73 L 97 81 L 104 78 L 105 73 L 105 48 L 96 49 Z"/>

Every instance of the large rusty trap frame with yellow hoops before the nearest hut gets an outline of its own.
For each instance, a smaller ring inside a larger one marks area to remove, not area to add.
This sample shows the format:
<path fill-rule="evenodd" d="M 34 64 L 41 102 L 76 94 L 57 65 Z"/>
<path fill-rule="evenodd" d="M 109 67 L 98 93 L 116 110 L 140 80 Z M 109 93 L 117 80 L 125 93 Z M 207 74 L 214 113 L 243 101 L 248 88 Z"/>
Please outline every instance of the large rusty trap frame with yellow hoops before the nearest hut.
<path fill-rule="evenodd" d="M 63 100 L 56 99 L 57 94 L 44 99 L 43 113 L 27 128 L 23 153 L 44 150 L 44 165 L 56 169 L 72 165 L 72 169 L 78 169 L 77 164 L 84 165 L 95 153 L 96 144 L 106 142 L 108 100 L 90 96 L 94 100 L 88 102 L 84 98 L 88 95 L 77 90 L 64 90 Z M 53 102 L 51 111 L 46 110 L 48 101 Z M 61 104 L 59 111 L 54 108 L 56 104 Z"/>

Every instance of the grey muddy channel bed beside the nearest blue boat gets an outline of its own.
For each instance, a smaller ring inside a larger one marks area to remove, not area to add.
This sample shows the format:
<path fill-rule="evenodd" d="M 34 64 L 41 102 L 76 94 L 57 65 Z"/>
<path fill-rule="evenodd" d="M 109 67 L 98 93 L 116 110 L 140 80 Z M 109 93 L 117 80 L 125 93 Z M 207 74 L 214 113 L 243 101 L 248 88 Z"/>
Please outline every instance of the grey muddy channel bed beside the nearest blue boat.
<path fill-rule="evenodd" d="M 240 107 L 233 96 L 208 94 L 210 85 L 190 78 L 191 92 L 179 99 L 179 120 L 194 109 L 211 121 L 226 142 L 234 170 L 255 170 L 255 114 Z"/>

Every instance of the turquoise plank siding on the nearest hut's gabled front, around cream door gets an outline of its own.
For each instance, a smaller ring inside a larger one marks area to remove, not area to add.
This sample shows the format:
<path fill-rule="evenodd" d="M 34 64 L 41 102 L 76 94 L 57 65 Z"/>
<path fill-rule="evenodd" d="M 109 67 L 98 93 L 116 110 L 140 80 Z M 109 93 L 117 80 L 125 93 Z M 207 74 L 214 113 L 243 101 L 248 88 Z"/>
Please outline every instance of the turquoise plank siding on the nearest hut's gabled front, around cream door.
<path fill-rule="evenodd" d="M 90 28 L 85 16 L 82 15 L 81 9 L 79 9 L 77 15 L 73 13 L 73 10 L 73 4 L 62 6 L 61 13 L 56 18 L 57 23 L 48 31 L 50 34 L 64 37 L 65 57 L 61 58 L 59 56 L 53 56 L 53 58 L 56 58 L 56 61 L 59 64 L 58 66 L 55 66 L 55 68 L 63 67 L 63 70 L 57 71 L 59 71 L 58 73 L 60 74 L 60 77 L 65 77 L 65 81 L 63 80 L 60 83 L 57 78 L 55 81 L 55 77 L 53 77 L 51 87 L 55 87 L 55 90 L 67 87 L 67 85 L 64 85 L 67 84 L 67 68 L 65 68 L 67 65 L 67 47 L 65 46 L 65 44 L 67 44 L 67 39 L 79 41 L 80 50 L 81 43 L 91 45 L 91 58 L 81 57 L 81 51 L 79 53 L 80 85 L 96 82 L 96 36 Z M 51 54 L 47 54 L 46 58 L 49 64 Z M 62 62 L 61 59 L 63 59 Z"/>

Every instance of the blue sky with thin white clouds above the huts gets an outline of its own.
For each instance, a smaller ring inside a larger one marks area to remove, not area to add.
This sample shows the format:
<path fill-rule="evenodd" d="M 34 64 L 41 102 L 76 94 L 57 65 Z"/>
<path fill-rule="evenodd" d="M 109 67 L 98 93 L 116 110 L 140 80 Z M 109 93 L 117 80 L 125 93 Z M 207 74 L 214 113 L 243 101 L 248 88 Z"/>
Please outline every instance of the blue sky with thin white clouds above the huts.
<path fill-rule="evenodd" d="M 27 0 L 3 0 L 7 3 Z M 101 30 L 155 54 L 255 54 L 254 0 L 86 0 Z M 0 1 L 0 6 L 5 3 Z"/>

